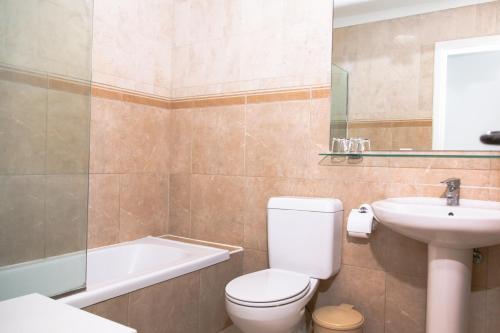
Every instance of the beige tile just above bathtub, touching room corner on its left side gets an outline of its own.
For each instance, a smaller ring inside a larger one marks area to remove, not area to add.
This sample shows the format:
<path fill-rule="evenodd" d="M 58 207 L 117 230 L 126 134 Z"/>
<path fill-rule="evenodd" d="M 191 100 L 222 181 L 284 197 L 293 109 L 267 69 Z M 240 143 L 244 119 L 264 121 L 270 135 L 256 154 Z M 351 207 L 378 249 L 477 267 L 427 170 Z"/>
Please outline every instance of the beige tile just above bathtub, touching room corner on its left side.
<path fill-rule="evenodd" d="M 168 176 L 120 175 L 120 241 L 158 236 L 168 226 Z"/>

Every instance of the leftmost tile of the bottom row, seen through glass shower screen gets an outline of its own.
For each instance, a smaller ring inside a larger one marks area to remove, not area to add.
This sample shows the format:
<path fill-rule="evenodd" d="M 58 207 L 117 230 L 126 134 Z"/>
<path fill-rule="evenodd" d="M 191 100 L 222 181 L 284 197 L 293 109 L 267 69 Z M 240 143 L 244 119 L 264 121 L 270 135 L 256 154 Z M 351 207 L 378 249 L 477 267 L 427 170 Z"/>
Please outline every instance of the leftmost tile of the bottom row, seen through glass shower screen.
<path fill-rule="evenodd" d="M 43 258 L 44 176 L 0 177 L 0 266 Z"/>

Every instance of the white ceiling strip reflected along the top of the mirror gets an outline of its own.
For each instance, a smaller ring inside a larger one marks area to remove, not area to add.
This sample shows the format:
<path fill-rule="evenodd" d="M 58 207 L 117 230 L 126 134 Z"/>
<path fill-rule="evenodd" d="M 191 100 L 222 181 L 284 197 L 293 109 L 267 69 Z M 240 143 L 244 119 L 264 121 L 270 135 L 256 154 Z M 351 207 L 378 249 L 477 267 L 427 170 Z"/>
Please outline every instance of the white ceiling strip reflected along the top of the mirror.
<path fill-rule="evenodd" d="M 334 0 L 335 28 L 495 0 Z"/>

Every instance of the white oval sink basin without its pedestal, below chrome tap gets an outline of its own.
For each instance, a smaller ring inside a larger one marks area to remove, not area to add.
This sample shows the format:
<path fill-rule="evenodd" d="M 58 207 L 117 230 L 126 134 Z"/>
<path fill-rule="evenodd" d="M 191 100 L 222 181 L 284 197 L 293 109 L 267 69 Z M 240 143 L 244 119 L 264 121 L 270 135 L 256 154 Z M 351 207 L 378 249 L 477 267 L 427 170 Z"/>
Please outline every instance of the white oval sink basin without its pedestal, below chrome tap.
<path fill-rule="evenodd" d="M 407 237 L 436 246 L 472 249 L 500 243 L 500 203 L 408 197 L 374 202 L 379 222 Z"/>

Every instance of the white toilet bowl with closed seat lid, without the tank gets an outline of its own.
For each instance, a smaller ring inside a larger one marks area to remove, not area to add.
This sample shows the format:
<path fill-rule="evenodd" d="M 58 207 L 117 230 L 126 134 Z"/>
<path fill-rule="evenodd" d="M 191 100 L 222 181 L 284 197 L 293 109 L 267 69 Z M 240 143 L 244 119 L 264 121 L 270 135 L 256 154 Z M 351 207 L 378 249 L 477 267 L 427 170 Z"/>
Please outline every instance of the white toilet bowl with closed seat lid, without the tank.
<path fill-rule="evenodd" d="M 305 306 L 319 281 L 304 274 L 267 269 L 232 280 L 226 309 L 245 333 L 306 333 Z"/>

